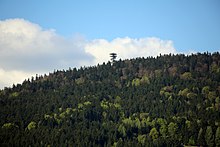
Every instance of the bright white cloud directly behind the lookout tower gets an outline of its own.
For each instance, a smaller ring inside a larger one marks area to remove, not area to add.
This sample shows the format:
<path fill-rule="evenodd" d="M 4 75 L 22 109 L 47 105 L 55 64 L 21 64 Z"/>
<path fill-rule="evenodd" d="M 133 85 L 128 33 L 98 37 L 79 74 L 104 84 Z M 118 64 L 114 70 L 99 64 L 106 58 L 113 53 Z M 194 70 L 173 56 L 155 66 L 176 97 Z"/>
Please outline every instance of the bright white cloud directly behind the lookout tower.
<path fill-rule="evenodd" d="M 176 53 L 171 40 L 161 40 L 155 37 L 116 38 L 110 42 L 104 39 L 96 39 L 86 44 L 85 50 L 95 57 L 96 64 L 108 61 L 111 52 L 117 53 L 121 59 L 157 56 L 160 53 Z"/>

